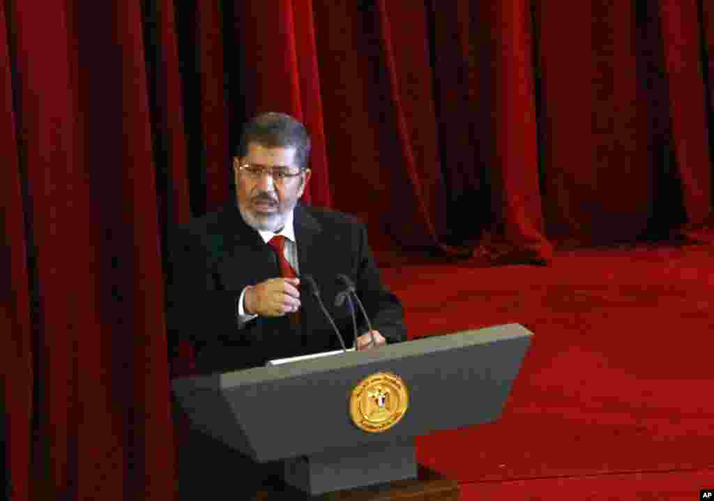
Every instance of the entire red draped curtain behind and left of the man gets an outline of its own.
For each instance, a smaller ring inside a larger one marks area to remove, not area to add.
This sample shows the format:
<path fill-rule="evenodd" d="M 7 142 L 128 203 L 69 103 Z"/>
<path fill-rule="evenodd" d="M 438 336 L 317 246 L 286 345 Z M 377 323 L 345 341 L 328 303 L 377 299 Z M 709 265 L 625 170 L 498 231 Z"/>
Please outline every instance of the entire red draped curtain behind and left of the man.
<path fill-rule="evenodd" d="M 13 500 L 173 495 L 166 228 L 232 196 L 256 112 L 381 256 L 714 242 L 703 0 L 6 0 L 0 33 Z"/>

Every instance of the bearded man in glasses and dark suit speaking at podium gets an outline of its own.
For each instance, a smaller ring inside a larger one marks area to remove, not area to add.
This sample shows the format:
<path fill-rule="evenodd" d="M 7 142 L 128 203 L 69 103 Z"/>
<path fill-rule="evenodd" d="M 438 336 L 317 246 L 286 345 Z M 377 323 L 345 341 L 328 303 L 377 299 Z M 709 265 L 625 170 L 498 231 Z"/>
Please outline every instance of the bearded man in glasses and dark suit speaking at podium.
<path fill-rule="evenodd" d="M 257 116 L 233 161 L 236 200 L 171 237 L 169 337 L 192 342 L 199 372 L 340 348 L 303 274 L 316 280 L 348 346 L 353 324 L 348 303 L 335 305 L 344 289 L 338 274 L 356 284 L 374 328 L 366 332 L 358 314 L 357 349 L 406 339 L 401 304 L 381 283 L 363 224 L 298 202 L 311 177 L 309 152 L 306 129 L 291 116 Z"/>

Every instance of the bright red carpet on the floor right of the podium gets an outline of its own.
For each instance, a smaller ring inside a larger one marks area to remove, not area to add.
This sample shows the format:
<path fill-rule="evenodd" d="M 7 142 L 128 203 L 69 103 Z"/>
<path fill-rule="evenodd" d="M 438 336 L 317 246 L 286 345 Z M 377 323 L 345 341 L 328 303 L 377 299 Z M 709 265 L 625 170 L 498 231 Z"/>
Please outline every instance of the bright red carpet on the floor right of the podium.
<path fill-rule="evenodd" d="M 714 487 L 713 247 L 415 262 L 383 277 L 412 337 L 511 322 L 535 334 L 499 422 L 418 440 L 463 500 L 695 500 Z"/>

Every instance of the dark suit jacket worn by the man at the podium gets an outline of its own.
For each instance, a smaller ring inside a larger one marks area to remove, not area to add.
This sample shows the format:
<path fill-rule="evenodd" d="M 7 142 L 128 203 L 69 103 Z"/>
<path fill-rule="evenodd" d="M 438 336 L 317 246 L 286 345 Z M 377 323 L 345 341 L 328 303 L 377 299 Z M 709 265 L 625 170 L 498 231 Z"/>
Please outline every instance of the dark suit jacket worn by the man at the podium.
<path fill-rule="evenodd" d="M 348 214 L 298 204 L 293 219 L 298 244 L 298 274 L 311 274 L 328 311 L 353 344 L 351 314 L 336 307 L 343 273 L 356 284 L 372 326 L 387 342 L 406 339 L 400 302 L 381 283 L 367 243 L 366 227 Z M 236 206 L 206 214 L 169 234 L 169 345 L 190 340 L 199 372 L 256 367 L 268 359 L 340 347 L 336 334 L 303 281 L 301 326 L 288 317 L 258 317 L 238 329 L 236 301 L 246 285 L 280 277 L 276 255 L 246 224 Z M 360 319 L 360 332 L 366 327 Z"/>

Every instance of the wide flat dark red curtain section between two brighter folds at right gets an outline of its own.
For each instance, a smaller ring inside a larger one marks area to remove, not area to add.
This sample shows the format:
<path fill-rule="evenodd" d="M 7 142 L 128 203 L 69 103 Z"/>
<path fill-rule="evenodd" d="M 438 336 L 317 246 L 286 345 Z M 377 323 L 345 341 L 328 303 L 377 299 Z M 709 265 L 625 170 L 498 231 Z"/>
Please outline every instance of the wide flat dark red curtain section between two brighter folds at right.
<path fill-rule="evenodd" d="M 561 247 L 631 242 L 648 227 L 648 96 L 638 84 L 634 6 L 581 2 L 572 22 L 558 23 L 555 5 L 540 3 L 543 199 L 548 236 Z"/>

